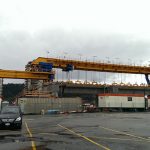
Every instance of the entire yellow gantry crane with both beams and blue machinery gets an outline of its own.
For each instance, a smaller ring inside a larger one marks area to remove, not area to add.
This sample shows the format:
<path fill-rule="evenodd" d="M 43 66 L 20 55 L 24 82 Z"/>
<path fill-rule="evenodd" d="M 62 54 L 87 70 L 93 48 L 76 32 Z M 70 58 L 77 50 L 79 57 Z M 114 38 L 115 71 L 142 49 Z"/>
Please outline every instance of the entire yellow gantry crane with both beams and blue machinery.
<path fill-rule="evenodd" d="M 150 85 L 150 80 L 148 78 L 148 75 L 150 74 L 150 67 L 144 66 L 129 66 L 44 57 L 38 57 L 28 65 L 28 69 L 30 68 L 29 70 L 27 69 L 28 71 L 0 70 L 0 78 L 53 80 L 55 73 L 52 71 L 52 68 L 61 68 L 63 71 L 84 70 L 144 74 L 148 85 Z"/>

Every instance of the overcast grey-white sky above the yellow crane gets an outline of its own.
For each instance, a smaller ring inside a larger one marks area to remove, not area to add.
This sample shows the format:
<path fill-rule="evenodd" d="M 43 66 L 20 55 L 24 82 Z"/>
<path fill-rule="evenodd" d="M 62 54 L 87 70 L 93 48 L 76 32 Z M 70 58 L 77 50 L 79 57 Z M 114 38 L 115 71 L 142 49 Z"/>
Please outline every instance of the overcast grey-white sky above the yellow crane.
<path fill-rule="evenodd" d="M 148 62 L 149 0 L 0 0 L 0 69 L 37 57 Z"/>

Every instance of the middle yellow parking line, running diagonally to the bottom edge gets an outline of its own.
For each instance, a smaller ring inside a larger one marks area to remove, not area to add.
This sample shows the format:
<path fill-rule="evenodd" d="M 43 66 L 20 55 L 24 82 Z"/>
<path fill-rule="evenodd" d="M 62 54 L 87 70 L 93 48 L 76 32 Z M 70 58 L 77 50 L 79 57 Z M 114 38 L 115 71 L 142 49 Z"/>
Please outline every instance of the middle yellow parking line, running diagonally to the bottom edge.
<path fill-rule="evenodd" d="M 85 140 L 87 140 L 87 141 L 89 141 L 89 142 L 91 142 L 91 143 L 97 145 L 98 147 L 103 148 L 104 150 L 110 150 L 110 148 L 105 147 L 105 146 L 103 146 L 103 145 L 101 145 L 101 144 L 99 144 L 99 143 L 97 143 L 97 142 L 95 142 L 95 141 L 89 139 L 88 137 L 86 137 L 86 136 L 84 136 L 84 135 L 82 135 L 82 134 L 76 133 L 76 132 L 74 132 L 73 130 L 68 129 L 68 128 L 65 127 L 65 126 L 62 126 L 62 125 L 60 125 L 60 124 L 58 124 L 58 126 L 61 127 L 61 128 L 63 128 L 63 129 L 65 129 L 65 130 L 67 130 L 67 131 L 69 131 L 69 132 L 71 132 L 72 134 L 74 134 L 74 135 L 76 135 L 76 136 L 79 136 L 79 137 L 81 137 L 81 138 L 83 138 L 83 139 L 85 139 Z"/>

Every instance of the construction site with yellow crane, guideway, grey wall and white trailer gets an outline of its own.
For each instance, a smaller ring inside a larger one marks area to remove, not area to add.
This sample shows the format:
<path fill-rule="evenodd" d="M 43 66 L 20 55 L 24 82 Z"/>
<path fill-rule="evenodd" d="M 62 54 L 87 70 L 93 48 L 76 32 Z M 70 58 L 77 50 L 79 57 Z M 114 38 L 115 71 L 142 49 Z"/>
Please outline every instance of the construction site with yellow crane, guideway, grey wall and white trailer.
<path fill-rule="evenodd" d="M 62 81 L 58 80 L 60 71 L 66 74 Z M 77 77 L 71 80 L 74 71 L 78 71 Z M 79 79 L 79 71 L 85 72 L 84 81 Z M 87 72 L 93 76 L 94 72 L 144 75 L 147 84 L 100 83 L 88 80 Z M 24 114 L 40 114 L 42 110 L 46 113 L 148 111 L 149 74 L 149 66 L 43 57 L 28 62 L 25 71 L 0 70 L 0 78 L 25 79 L 23 91 L 14 100 Z"/>

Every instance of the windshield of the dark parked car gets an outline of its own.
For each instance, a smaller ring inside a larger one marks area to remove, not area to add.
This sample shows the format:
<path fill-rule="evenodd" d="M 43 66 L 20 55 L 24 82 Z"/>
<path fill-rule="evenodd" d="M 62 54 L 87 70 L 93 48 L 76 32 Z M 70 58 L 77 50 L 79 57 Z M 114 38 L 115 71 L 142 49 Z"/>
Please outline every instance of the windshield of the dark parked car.
<path fill-rule="evenodd" d="M 1 114 L 18 114 L 19 109 L 17 107 L 5 107 L 2 109 Z"/>

